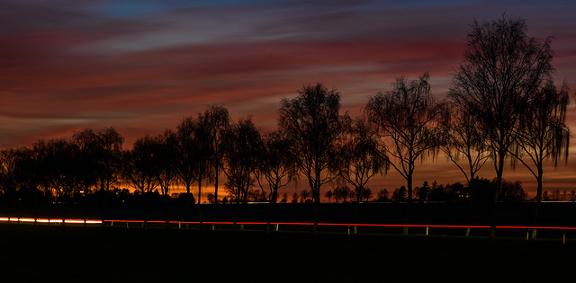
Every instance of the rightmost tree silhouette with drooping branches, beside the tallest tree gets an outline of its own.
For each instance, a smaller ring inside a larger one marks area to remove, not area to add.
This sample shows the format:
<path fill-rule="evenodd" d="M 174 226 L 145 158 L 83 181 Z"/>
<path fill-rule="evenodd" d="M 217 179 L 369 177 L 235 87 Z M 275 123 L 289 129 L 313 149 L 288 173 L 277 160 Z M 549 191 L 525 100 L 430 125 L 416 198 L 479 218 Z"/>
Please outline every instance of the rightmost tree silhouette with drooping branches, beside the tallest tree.
<path fill-rule="evenodd" d="M 569 102 L 567 84 L 564 83 L 558 91 L 554 82 L 546 82 L 540 90 L 530 95 L 527 111 L 520 119 L 516 132 L 518 139 L 512 155 L 527 167 L 538 184 L 534 226 L 538 222 L 542 202 L 545 160 L 552 160 L 554 167 L 560 159 L 568 160 L 570 129 L 565 120 Z M 532 235 L 536 237 L 536 229 L 533 229 Z"/>

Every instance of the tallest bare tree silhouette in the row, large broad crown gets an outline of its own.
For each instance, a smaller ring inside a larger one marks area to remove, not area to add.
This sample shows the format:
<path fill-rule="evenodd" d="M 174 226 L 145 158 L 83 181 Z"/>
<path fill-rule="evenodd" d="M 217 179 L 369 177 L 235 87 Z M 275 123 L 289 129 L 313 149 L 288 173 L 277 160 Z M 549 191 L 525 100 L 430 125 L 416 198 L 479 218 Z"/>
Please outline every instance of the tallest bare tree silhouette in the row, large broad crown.
<path fill-rule="evenodd" d="M 526 20 L 503 15 L 491 22 L 474 21 L 464 60 L 456 69 L 449 96 L 480 121 L 496 170 L 491 238 L 496 232 L 498 198 L 504 162 L 516 142 L 518 123 L 529 96 L 550 78 L 551 38 L 528 37 Z"/>

